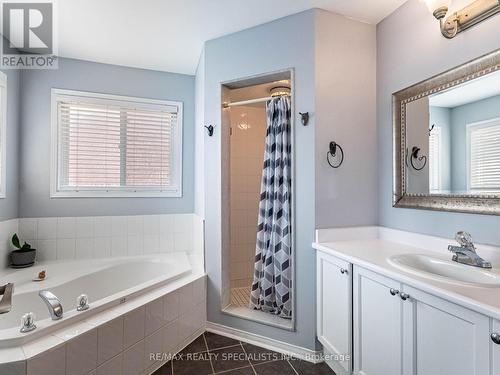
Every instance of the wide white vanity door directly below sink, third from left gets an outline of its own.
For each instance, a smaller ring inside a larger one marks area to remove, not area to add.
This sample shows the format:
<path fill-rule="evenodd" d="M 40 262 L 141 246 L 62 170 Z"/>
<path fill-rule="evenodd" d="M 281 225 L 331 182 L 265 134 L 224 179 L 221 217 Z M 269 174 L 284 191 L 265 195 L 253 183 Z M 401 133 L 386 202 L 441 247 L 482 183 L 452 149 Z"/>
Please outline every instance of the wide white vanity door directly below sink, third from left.
<path fill-rule="evenodd" d="M 487 375 L 489 318 L 404 286 L 404 375 Z"/>

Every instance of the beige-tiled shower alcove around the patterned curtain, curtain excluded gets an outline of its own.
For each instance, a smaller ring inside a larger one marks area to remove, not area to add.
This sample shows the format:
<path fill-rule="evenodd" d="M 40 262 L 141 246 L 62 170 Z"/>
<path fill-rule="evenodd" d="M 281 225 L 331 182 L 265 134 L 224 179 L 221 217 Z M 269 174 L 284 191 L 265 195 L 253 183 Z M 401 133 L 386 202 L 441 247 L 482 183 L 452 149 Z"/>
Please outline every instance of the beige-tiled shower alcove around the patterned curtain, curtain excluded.
<path fill-rule="evenodd" d="M 293 71 L 224 82 L 222 103 L 222 311 L 263 324 L 293 330 L 294 316 L 250 308 L 254 278 L 259 201 L 266 143 L 266 105 L 271 97 L 286 95 L 291 103 L 292 221 L 291 270 L 293 280 Z M 290 290 L 292 306 L 294 284 Z M 292 307 L 292 311 L 294 308 Z"/>

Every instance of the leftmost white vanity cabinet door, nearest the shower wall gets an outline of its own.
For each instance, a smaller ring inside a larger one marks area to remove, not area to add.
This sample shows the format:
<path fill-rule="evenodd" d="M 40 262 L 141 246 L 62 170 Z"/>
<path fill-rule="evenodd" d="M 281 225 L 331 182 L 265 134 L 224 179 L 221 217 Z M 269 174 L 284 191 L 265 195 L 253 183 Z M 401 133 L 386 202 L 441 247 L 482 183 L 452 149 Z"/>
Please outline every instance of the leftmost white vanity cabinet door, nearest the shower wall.
<path fill-rule="evenodd" d="M 349 263 L 318 252 L 317 301 L 318 340 L 327 363 L 338 374 L 351 373 L 352 267 Z"/>

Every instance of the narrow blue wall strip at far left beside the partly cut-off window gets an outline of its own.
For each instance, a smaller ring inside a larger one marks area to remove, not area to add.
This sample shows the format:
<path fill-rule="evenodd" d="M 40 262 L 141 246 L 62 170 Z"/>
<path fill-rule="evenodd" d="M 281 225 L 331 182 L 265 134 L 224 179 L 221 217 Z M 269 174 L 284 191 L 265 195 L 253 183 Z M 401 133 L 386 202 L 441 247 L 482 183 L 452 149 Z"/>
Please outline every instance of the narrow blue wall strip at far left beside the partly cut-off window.
<path fill-rule="evenodd" d="M 19 70 L 3 70 L 7 75 L 7 155 L 6 193 L 0 198 L 0 221 L 18 215 L 19 177 Z"/>

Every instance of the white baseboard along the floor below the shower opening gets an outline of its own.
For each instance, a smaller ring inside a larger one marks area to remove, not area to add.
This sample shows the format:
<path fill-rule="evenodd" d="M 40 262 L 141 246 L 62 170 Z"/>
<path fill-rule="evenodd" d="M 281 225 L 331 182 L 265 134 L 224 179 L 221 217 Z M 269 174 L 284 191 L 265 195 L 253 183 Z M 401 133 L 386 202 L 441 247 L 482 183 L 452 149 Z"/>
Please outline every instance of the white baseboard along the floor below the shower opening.
<path fill-rule="evenodd" d="M 304 361 L 312 363 L 323 362 L 322 351 L 302 348 L 300 346 L 288 344 L 283 341 L 256 335 L 255 333 L 241 331 L 239 329 L 223 326 L 221 324 L 212 322 L 207 322 L 207 331 L 222 336 L 227 336 L 232 339 L 243 341 L 252 345 L 260 346 L 265 349 L 273 350 L 284 355 L 303 359 Z"/>

